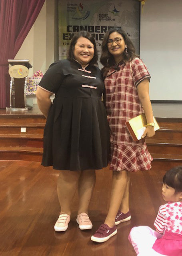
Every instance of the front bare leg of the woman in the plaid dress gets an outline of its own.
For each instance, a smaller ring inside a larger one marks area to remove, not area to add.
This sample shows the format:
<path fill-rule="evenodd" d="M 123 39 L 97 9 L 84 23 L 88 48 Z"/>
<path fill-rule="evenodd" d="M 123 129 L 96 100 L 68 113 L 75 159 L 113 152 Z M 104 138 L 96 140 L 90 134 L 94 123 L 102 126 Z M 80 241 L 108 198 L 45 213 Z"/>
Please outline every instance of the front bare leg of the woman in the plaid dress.
<path fill-rule="evenodd" d="M 115 218 L 120 208 L 122 198 L 125 194 L 126 186 L 128 183 L 128 171 L 113 171 L 112 176 L 112 190 L 110 198 L 110 206 L 108 215 L 105 220 L 105 224 L 108 224 L 109 227 L 115 225 Z"/>

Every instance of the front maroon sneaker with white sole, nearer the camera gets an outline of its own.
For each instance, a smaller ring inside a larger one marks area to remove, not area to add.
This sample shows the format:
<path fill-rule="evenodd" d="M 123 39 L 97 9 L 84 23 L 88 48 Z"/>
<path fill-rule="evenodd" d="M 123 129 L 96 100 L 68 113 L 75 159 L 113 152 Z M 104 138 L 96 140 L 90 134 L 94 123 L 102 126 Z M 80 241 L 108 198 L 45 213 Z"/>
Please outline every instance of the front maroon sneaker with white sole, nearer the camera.
<path fill-rule="evenodd" d="M 116 226 L 114 225 L 110 228 L 107 224 L 102 224 L 95 232 L 93 236 L 91 236 L 91 240 L 94 242 L 102 243 L 106 242 L 110 237 L 114 236 L 117 233 Z"/>

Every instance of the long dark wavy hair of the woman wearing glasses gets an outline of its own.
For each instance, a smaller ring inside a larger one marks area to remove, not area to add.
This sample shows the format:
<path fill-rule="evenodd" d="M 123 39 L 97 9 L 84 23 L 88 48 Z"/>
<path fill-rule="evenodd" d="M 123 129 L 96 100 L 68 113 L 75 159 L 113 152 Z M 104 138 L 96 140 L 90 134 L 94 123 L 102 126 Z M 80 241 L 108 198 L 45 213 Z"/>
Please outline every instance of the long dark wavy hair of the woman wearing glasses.
<path fill-rule="evenodd" d="M 104 39 L 102 41 L 102 55 L 100 57 L 100 62 L 104 66 L 104 68 L 102 69 L 102 71 L 104 71 L 104 72 L 106 72 L 111 66 L 113 66 L 115 64 L 114 57 L 108 51 L 108 38 L 109 38 L 110 34 L 112 34 L 113 32 L 118 32 L 119 34 L 121 34 L 122 37 L 124 38 L 125 44 L 127 45 L 127 52 L 126 52 L 126 50 L 124 50 L 124 52 L 123 52 L 122 63 L 126 64 L 126 62 L 134 59 L 135 57 L 138 57 L 138 55 L 135 54 L 135 48 L 134 48 L 132 41 L 127 36 L 127 34 L 124 32 L 124 30 L 122 30 L 120 28 L 111 28 L 110 30 L 108 30 L 106 32 Z"/>

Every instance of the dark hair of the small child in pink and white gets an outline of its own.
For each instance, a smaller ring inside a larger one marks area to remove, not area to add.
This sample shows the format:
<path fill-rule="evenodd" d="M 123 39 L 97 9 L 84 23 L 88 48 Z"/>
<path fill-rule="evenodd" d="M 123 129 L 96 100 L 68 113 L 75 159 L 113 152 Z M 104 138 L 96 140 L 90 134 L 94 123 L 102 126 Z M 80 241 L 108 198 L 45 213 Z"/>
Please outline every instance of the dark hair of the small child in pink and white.
<path fill-rule="evenodd" d="M 174 188 L 176 193 L 182 192 L 182 166 L 176 166 L 166 172 L 163 183 Z"/>

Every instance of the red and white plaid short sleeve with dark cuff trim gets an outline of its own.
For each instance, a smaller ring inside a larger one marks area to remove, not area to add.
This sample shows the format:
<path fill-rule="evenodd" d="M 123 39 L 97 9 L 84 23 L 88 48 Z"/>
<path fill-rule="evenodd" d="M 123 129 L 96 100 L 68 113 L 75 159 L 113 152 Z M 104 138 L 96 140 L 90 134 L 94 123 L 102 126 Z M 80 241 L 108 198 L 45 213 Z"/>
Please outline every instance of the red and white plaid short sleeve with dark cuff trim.
<path fill-rule="evenodd" d="M 140 84 L 140 82 L 142 82 L 142 80 L 144 80 L 145 78 L 149 78 L 150 80 L 150 74 L 142 60 L 140 60 L 139 58 L 135 58 L 134 60 L 132 60 L 131 63 L 136 86 L 138 86 L 138 84 Z"/>

